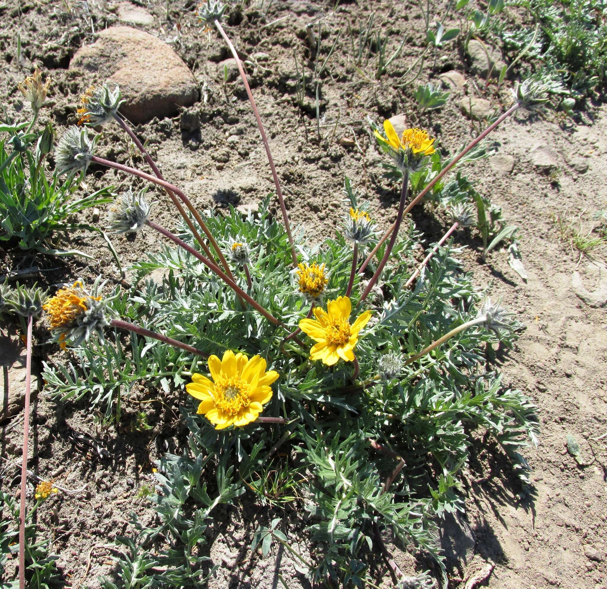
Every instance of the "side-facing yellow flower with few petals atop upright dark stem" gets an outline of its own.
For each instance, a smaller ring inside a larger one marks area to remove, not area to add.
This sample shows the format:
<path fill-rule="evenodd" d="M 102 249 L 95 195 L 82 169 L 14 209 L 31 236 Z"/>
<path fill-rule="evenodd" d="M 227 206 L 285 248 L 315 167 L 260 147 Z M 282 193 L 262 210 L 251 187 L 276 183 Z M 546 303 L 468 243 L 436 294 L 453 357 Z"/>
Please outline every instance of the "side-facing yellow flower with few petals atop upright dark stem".
<path fill-rule="evenodd" d="M 387 151 L 402 170 L 416 172 L 422 170 L 426 165 L 428 157 L 435 149 L 434 139 L 430 139 L 427 131 L 417 127 L 405 129 L 402 136 L 396 134 L 392 123 L 384 121 L 385 137 L 375 130 L 375 136 L 382 148 Z"/>

